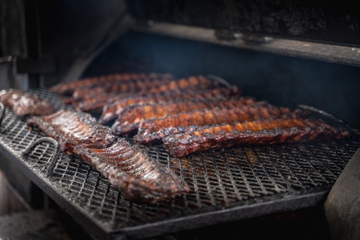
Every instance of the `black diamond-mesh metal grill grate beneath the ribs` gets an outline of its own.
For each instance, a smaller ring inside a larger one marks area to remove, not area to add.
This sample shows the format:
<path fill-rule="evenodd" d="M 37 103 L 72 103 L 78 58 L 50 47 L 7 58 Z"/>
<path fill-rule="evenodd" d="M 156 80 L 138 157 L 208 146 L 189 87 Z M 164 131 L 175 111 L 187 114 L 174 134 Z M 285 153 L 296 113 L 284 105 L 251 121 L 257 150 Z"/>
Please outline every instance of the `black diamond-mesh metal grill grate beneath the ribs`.
<path fill-rule="evenodd" d="M 36 93 L 61 107 L 59 99 L 46 90 Z M 345 140 L 238 147 L 182 158 L 171 157 L 161 145 L 140 146 L 173 169 L 191 188 L 188 194 L 171 202 L 149 206 L 124 199 L 103 175 L 76 156 L 60 153 L 53 174 L 46 175 L 44 167 L 55 148 L 42 142 L 22 158 L 20 153 L 29 144 L 45 136 L 38 128 L 29 129 L 25 120 L 5 108 L 0 126 L 1 150 L 12 156 L 62 207 L 75 209 L 76 214 L 72 214 L 78 221 L 92 222 L 95 229 L 87 227 L 99 238 L 122 234 L 135 238 L 151 236 L 311 206 L 325 196 L 360 146 L 357 131 Z M 131 138 L 128 140 L 133 143 Z M 309 194 L 318 197 L 307 203 L 298 200 Z M 284 199 L 286 206 L 281 204 Z M 271 208 L 276 202 L 280 206 Z M 253 209 L 254 204 L 264 207 L 246 211 Z M 211 212 L 221 214 L 215 220 L 209 217 Z"/>

